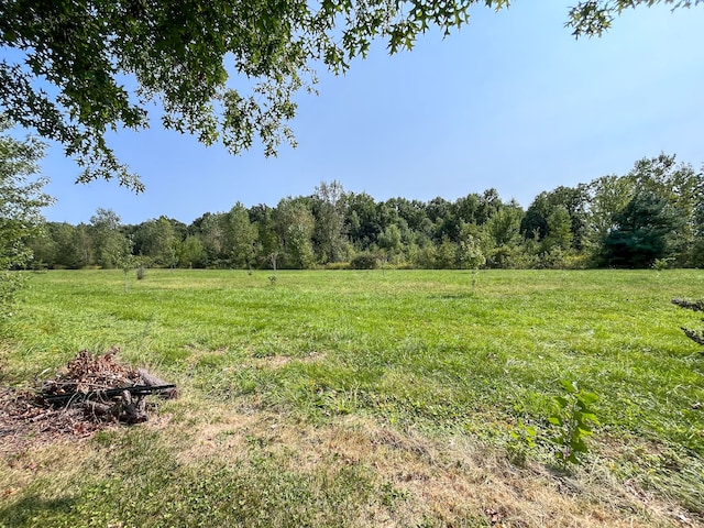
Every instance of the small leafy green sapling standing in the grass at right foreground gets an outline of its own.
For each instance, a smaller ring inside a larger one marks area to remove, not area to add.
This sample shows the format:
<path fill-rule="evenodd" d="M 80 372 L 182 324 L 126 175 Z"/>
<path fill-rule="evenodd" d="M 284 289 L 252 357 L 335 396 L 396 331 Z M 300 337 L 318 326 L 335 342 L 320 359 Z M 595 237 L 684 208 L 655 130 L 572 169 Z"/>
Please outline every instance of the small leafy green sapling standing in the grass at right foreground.
<path fill-rule="evenodd" d="M 588 452 L 584 439 L 594 433 L 594 426 L 600 425 L 592 409 L 592 404 L 598 400 L 598 396 L 580 388 L 576 382 L 561 380 L 560 384 L 565 393 L 556 396 L 553 413 L 548 418 L 558 428 L 552 438 L 552 442 L 558 446 L 556 457 L 563 465 L 579 464 L 580 457 Z"/>

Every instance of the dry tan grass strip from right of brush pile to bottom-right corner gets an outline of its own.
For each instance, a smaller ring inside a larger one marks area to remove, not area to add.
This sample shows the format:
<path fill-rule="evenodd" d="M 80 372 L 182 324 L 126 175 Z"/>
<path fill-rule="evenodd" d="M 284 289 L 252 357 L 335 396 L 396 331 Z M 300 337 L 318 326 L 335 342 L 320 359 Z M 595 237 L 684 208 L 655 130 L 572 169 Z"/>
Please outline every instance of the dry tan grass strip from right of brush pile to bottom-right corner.
<path fill-rule="evenodd" d="M 232 464 L 255 450 L 274 457 L 282 471 L 365 470 L 383 496 L 355 526 L 703 526 L 676 507 L 644 499 L 642 491 L 619 484 L 603 466 L 573 475 L 538 463 L 517 468 L 505 453 L 464 437 L 429 439 L 362 417 L 315 426 L 221 406 L 210 418 L 191 429 L 183 460 Z"/>

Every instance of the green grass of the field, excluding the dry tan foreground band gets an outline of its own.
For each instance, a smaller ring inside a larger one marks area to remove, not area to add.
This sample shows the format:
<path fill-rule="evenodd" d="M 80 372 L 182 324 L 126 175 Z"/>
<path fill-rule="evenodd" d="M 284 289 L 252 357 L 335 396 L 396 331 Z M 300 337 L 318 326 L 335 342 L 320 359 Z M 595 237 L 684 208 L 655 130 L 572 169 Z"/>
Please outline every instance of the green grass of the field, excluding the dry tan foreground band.
<path fill-rule="evenodd" d="M 212 421 L 202 409 L 226 405 L 292 427 L 364 419 L 501 452 L 524 422 L 538 430 L 529 459 L 550 464 L 552 398 L 560 380 L 575 380 L 601 397 L 585 466 L 606 468 L 688 515 L 703 513 L 704 355 L 680 330 L 700 321 L 670 300 L 702 297 L 704 273 L 482 272 L 475 292 L 469 272 L 279 272 L 274 285 L 268 275 L 150 271 L 131 277 L 125 293 L 121 272 L 37 274 L 6 329 L 2 384 L 29 384 L 81 349 L 119 345 L 123 361 L 190 395 L 162 408 L 188 427 Z M 380 481 L 364 461 L 277 471 L 292 453 L 255 442 L 234 466 L 220 461 L 204 473 L 178 458 L 188 441 L 175 431 L 143 429 L 103 433 L 117 447 L 81 464 L 100 458 L 105 468 L 86 482 L 67 477 L 67 495 L 40 497 L 61 483 L 48 472 L 0 497 L 0 526 L 360 526 L 360 516 L 384 515 L 449 524 L 432 510 L 399 513 L 408 490 Z M 153 449 L 140 447 L 144 438 Z M 98 440 L 92 449 L 105 450 Z M 147 476 L 124 457 L 139 458 Z M 142 479 L 156 479 L 169 517 L 153 509 L 153 486 Z M 256 482 L 266 497 L 252 491 Z M 130 494 L 131 503 L 122 498 Z M 468 510 L 454 521 L 476 526 L 484 517 Z"/>

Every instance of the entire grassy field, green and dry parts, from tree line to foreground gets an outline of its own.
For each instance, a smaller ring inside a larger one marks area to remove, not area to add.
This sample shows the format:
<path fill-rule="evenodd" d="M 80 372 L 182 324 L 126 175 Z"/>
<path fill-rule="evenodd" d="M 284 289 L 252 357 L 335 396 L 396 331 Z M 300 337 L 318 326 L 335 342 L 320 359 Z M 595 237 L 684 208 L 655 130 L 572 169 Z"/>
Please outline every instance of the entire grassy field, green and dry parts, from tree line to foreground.
<path fill-rule="evenodd" d="M 670 302 L 703 272 L 270 275 L 34 275 L 0 385 L 118 345 L 182 396 L 6 449 L 0 526 L 704 526 L 704 355 L 680 330 L 704 323 Z M 566 470 L 562 380 L 600 396 Z"/>

